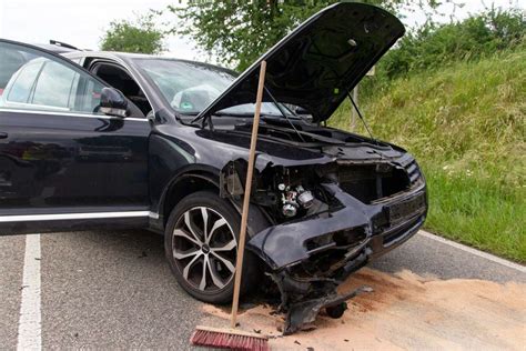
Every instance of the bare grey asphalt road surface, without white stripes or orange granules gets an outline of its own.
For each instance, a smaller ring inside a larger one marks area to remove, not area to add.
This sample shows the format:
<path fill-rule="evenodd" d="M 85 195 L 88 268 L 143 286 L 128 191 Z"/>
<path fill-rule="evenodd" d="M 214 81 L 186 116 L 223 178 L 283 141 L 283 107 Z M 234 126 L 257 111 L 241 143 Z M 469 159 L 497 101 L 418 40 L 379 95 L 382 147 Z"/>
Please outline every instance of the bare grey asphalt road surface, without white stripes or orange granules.
<path fill-rule="evenodd" d="M 146 231 L 40 235 L 41 347 L 189 349 L 203 318 L 164 261 L 163 240 Z M 0 349 L 19 340 L 26 235 L 0 237 Z M 372 264 L 443 279 L 526 283 L 526 273 L 415 235 Z"/>

